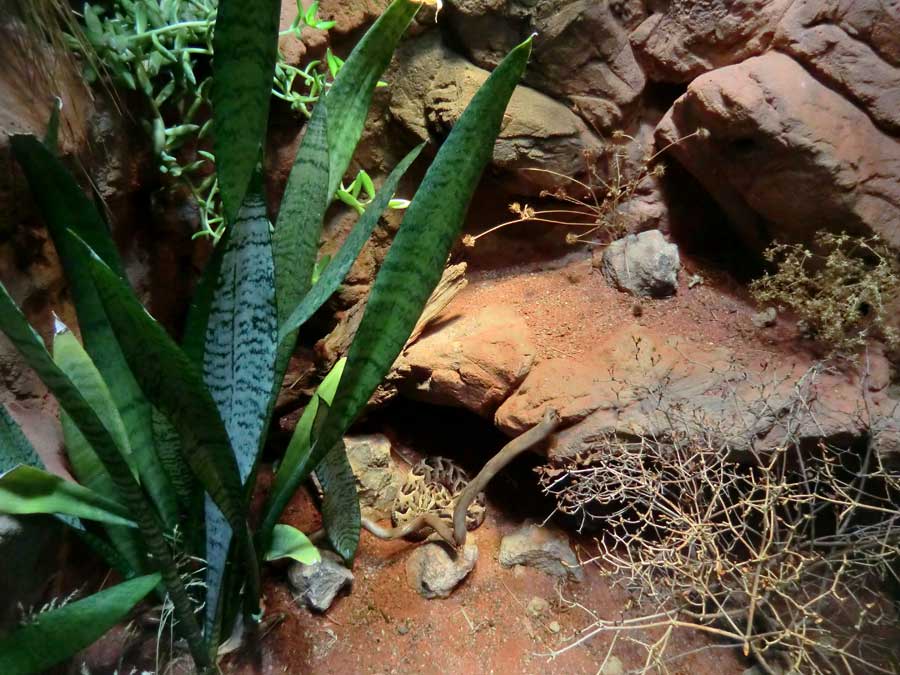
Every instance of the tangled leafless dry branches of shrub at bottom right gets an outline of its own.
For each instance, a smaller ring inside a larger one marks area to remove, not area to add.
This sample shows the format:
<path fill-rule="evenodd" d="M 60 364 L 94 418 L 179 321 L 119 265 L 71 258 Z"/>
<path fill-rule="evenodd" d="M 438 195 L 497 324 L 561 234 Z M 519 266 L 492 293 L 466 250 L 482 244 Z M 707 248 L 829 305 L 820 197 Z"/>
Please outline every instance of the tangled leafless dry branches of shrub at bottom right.
<path fill-rule="evenodd" d="M 610 435 L 541 469 L 561 511 L 603 525 L 586 564 L 654 608 L 597 619 L 577 643 L 612 634 L 643 646 L 642 672 L 667 672 L 673 632 L 694 628 L 769 674 L 900 672 L 885 590 L 898 578 L 900 469 L 874 450 L 888 430 L 868 419 L 866 442 L 809 447 L 797 431 L 808 391 L 795 388 L 781 442 L 741 461 L 728 434 L 676 415 L 665 438 Z"/>

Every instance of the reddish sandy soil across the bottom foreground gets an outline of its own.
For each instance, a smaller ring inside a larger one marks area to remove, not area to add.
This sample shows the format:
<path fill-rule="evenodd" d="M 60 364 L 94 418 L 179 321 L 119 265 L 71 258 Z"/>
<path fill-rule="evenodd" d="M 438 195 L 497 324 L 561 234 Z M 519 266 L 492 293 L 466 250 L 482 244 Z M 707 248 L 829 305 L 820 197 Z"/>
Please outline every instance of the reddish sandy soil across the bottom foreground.
<path fill-rule="evenodd" d="M 406 559 L 418 544 L 382 542 L 363 532 L 353 573 L 352 593 L 335 601 L 325 615 L 299 608 L 281 576 L 265 586 L 266 613 L 280 621 L 265 636 L 259 662 L 244 661 L 235 673 L 596 673 L 611 653 L 624 668 L 639 668 L 646 652 L 600 635 L 571 645 L 599 618 L 627 618 L 634 599 L 610 586 L 597 568 L 583 583 L 559 585 L 541 572 L 504 569 L 497 556 L 500 539 L 521 523 L 490 504 L 484 525 L 470 533 L 479 548 L 469 577 L 444 600 L 420 597 L 406 581 Z M 587 556 L 591 542 L 576 545 Z M 550 607 L 529 614 L 532 598 Z M 643 641 L 646 633 L 633 637 Z M 710 646 L 705 637 L 683 633 L 672 653 Z M 566 650 L 566 648 L 569 649 Z M 565 650 L 565 651 L 563 651 Z M 553 652 L 562 652 L 556 658 Z M 747 664 L 735 650 L 712 649 L 670 665 L 672 673 L 741 673 Z"/>

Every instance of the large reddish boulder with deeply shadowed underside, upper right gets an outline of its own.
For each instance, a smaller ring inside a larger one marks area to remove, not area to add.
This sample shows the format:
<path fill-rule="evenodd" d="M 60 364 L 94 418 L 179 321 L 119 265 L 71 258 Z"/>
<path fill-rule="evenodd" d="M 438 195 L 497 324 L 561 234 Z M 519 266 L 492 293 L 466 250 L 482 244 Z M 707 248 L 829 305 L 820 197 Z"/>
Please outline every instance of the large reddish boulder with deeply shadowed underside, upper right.
<path fill-rule="evenodd" d="M 825 229 L 900 247 L 900 142 L 796 61 L 768 53 L 694 80 L 657 129 L 746 243 Z"/>

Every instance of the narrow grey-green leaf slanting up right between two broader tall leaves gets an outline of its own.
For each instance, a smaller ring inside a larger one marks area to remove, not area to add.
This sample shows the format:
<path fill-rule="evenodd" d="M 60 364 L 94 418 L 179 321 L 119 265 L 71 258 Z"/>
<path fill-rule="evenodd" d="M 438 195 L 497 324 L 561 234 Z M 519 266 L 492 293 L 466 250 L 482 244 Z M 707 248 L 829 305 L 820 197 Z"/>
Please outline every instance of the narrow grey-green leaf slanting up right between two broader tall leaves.
<path fill-rule="evenodd" d="M 337 290 L 338 286 L 347 276 L 347 272 L 353 262 L 359 257 L 363 245 L 372 235 L 372 230 L 378 224 L 381 214 L 387 208 L 388 202 L 397 191 L 397 184 L 406 173 L 410 165 L 419 156 L 424 145 L 414 148 L 403 160 L 394 167 L 375 199 L 366 208 L 347 239 L 344 241 L 337 255 L 328 263 L 322 272 L 318 282 L 305 295 L 303 300 L 290 313 L 290 316 L 282 323 L 279 330 L 279 339 L 290 339 L 290 336 L 316 313 L 325 304 L 325 301 Z"/>

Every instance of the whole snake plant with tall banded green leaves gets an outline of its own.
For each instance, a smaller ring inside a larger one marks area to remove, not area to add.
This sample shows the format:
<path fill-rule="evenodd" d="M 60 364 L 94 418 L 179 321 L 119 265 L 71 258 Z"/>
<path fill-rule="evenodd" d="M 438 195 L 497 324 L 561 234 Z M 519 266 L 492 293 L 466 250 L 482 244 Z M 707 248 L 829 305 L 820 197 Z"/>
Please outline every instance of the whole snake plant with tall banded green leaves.
<path fill-rule="evenodd" d="M 438 151 L 376 278 L 346 362 L 325 378 L 304 411 L 261 524 L 251 530 L 249 496 L 298 331 L 342 282 L 421 150 L 400 162 L 343 248 L 324 269 L 317 267 L 325 211 L 340 189 L 379 77 L 418 9 L 412 0 L 394 0 L 314 108 L 273 230 L 260 160 L 278 8 L 276 0 L 252 10 L 239 0 L 219 3 L 212 128 L 228 227 L 198 285 L 180 343 L 141 305 L 103 217 L 52 142 L 12 141 L 69 280 L 83 345 L 58 324 L 51 354 L 2 285 L 0 329 L 58 401 L 79 484 L 44 470 L 0 407 L 0 512 L 55 514 L 124 581 L 40 615 L 0 641 L 4 673 L 35 672 L 64 659 L 150 592 L 171 607 L 198 670 L 214 672 L 222 636 L 259 621 L 261 563 L 318 558 L 303 533 L 278 523 L 313 470 L 325 491 L 331 545 L 353 557 L 359 504 L 342 437 L 440 278 L 530 40 L 497 67 Z M 198 575 L 202 584 L 189 583 Z M 91 629 L 68 628 L 79 622 Z M 52 649 L 43 648 L 47 641 Z"/>

